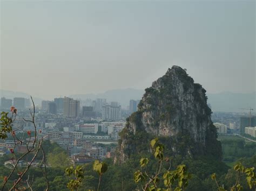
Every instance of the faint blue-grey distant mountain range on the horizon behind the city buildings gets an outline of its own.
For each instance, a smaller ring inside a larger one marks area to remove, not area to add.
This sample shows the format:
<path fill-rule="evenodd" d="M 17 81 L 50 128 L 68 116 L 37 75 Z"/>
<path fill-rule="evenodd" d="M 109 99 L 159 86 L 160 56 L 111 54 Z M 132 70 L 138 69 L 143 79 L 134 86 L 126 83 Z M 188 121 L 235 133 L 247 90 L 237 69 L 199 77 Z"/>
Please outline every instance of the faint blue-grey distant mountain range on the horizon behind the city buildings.
<path fill-rule="evenodd" d="M 96 98 L 106 98 L 107 102 L 117 101 L 126 107 L 129 105 L 130 100 L 140 100 L 144 94 L 144 90 L 141 89 L 114 89 L 106 91 L 100 94 L 75 94 L 69 97 L 86 100 L 95 100 Z M 253 93 L 231 93 L 223 92 L 217 94 L 208 94 L 208 103 L 211 105 L 212 111 L 223 111 L 223 112 L 241 112 L 241 108 L 253 108 L 254 112 L 256 110 L 256 92 Z M 13 99 L 14 97 L 25 97 L 30 98 L 30 95 L 15 92 L 0 90 L 0 97 L 6 97 Z M 36 104 L 41 105 L 42 98 L 33 97 Z"/>

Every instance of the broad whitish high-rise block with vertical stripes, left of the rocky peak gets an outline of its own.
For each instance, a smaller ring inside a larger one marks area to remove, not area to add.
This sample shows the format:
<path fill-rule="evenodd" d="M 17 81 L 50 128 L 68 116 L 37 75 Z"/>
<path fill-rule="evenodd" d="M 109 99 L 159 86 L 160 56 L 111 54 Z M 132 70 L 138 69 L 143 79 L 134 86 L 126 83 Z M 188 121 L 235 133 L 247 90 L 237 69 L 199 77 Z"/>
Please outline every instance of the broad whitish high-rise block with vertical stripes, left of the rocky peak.
<path fill-rule="evenodd" d="M 113 107 L 111 105 L 103 106 L 103 116 L 106 120 L 119 120 L 121 118 L 121 106 Z"/>

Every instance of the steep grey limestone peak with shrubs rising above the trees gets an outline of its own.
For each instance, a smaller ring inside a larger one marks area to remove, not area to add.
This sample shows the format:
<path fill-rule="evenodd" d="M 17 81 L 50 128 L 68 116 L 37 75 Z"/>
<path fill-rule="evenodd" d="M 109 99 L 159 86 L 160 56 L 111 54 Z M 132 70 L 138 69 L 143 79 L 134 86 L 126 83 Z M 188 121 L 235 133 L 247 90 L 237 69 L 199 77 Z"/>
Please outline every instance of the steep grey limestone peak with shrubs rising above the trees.
<path fill-rule="evenodd" d="M 131 154 L 142 151 L 140 145 L 149 142 L 151 137 L 163 137 L 174 155 L 207 154 L 220 159 L 221 145 L 205 93 L 184 69 L 169 68 L 145 89 L 138 111 L 127 119 L 117 160 L 124 162 Z"/>

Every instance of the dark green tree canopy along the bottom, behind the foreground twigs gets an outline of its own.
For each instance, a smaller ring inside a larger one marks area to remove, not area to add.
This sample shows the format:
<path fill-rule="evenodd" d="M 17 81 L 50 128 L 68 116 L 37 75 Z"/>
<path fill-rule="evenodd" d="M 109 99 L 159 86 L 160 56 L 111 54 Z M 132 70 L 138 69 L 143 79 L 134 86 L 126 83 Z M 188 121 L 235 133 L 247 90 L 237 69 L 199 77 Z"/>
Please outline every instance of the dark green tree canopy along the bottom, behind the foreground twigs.
<path fill-rule="evenodd" d="M 69 167 L 69 157 L 65 154 L 57 144 L 50 143 L 48 140 L 44 141 L 45 153 L 48 157 L 48 162 L 51 165 L 47 169 L 48 180 L 51 190 L 69 190 L 67 185 L 72 179 L 65 175 L 65 168 Z M 59 154 L 63 153 L 63 154 Z M 0 158 L 0 180 L 4 180 L 4 176 L 8 174 L 11 169 L 4 167 L 3 162 L 9 160 L 11 155 L 5 155 Z M 140 184 L 133 179 L 134 172 L 140 169 L 141 157 L 147 158 L 147 171 L 149 174 L 155 173 L 157 169 L 158 159 L 150 153 L 144 153 L 141 156 L 131 155 L 125 164 L 112 164 L 111 159 L 104 160 L 108 168 L 100 182 L 100 190 L 136 190 L 141 189 Z M 186 165 L 187 171 L 191 174 L 191 179 L 188 180 L 186 190 L 218 190 L 217 185 L 211 179 L 211 174 L 216 173 L 219 185 L 225 185 L 225 188 L 231 188 L 236 180 L 236 173 L 232 168 L 226 166 L 223 162 L 211 160 L 209 158 L 190 159 L 182 158 L 181 156 L 164 158 L 167 160 L 163 163 L 163 172 L 170 168 L 170 171 L 175 171 L 179 164 Z M 56 162 L 57 161 L 57 162 Z M 170 167 L 171 161 L 171 167 Z M 245 167 L 256 166 L 256 155 L 239 160 Z M 83 180 L 79 190 L 97 190 L 98 188 L 98 173 L 93 171 L 93 164 L 86 164 L 83 168 Z M 30 168 L 27 175 L 33 176 L 33 183 L 31 188 L 33 190 L 45 190 L 46 182 L 41 174 L 41 170 L 35 167 Z M 10 188 L 12 181 L 17 178 L 14 175 L 6 188 Z M 251 190 L 246 182 L 245 174 L 241 176 L 241 186 L 244 190 Z M 164 187 L 163 177 L 159 177 L 159 187 Z M 7 189 L 6 189 L 7 190 Z"/>

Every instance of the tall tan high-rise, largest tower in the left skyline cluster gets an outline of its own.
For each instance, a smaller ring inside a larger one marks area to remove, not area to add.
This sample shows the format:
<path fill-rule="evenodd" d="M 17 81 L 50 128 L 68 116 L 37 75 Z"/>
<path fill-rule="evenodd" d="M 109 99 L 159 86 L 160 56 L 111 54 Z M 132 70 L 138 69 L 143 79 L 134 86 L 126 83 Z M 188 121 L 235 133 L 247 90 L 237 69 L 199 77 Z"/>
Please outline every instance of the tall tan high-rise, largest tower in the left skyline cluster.
<path fill-rule="evenodd" d="M 63 115 L 65 117 L 77 117 L 79 115 L 80 102 L 69 97 L 63 100 Z"/>

